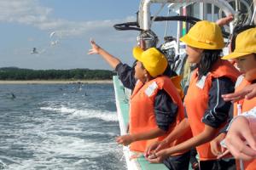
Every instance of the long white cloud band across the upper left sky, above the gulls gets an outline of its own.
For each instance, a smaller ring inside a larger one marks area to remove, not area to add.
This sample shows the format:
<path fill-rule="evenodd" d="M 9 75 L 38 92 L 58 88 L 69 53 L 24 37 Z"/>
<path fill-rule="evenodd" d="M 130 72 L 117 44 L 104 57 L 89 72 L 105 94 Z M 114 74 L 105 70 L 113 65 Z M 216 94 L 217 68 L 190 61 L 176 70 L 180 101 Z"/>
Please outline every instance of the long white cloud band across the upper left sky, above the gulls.
<path fill-rule="evenodd" d="M 90 34 L 93 31 L 109 31 L 113 25 L 136 20 L 128 16 L 124 20 L 93 20 L 75 22 L 51 17 L 52 8 L 40 6 L 38 0 L 1 0 L 0 22 L 20 23 L 35 26 L 43 31 L 55 31 L 59 37 L 73 37 Z"/>

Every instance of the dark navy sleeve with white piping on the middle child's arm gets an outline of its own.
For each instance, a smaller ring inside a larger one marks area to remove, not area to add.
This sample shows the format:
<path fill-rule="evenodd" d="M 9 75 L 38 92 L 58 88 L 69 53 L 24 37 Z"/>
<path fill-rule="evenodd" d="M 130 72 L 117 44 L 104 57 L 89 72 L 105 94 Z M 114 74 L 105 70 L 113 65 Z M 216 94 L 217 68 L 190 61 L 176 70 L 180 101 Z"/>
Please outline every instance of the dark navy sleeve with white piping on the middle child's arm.
<path fill-rule="evenodd" d="M 210 127 L 218 128 L 227 121 L 231 102 L 226 102 L 222 94 L 234 92 L 234 82 L 227 77 L 219 77 L 212 80 L 212 88 L 209 91 L 208 109 L 202 122 Z"/>

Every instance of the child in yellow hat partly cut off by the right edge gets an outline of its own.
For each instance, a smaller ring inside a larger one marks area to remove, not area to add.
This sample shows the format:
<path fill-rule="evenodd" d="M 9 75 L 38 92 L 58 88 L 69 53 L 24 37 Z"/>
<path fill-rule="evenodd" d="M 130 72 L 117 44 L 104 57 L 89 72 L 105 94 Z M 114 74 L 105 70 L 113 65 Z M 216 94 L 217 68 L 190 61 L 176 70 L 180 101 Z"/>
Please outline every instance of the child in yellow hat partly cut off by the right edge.
<path fill-rule="evenodd" d="M 237 79 L 236 82 L 236 91 L 240 91 L 242 88 L 246 88 L 251 84 L 255 84 L 256 76 L 256 28 L 248 29 L 247 31 L 242 31 L 236 37 L 236 48 L 235 51 L 227 56 L 224 56 L 223 59 L 236 59 L 237 65 L 240 68 L 241 72 L 244 73 L 243 76 Z M 251 72 L 254 72 L 252 74 Z M 242 112 L 249 111 L 256 106 L 256 98 L 253 99 L 241 99 L 234 103 L 234 114 L 233 116 L 239 116 Z M 228 138 L 228 143 L 230 139 Z M 238 140 L 236 142 L 239 142 Z M 246 144 L 240 143 L 241 148 L 247 147 Z M 252 161 L 236 161 L 236 166 L 244 167 L 247 170 L 256 169 L 256 159 Z"/>

